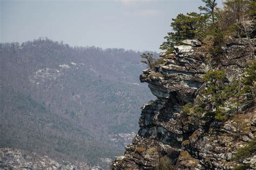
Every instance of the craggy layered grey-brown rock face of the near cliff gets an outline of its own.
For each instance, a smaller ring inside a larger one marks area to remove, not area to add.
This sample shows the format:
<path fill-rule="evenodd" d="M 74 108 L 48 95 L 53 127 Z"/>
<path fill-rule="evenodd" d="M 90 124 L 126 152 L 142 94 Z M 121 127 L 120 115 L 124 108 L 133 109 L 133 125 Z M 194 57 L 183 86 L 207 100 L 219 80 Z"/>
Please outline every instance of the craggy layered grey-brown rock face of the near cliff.
<path fill-rule="evenodd" d="M 227 81 L 240 77 L 246 63 L 254 60 L 252 44 L 235 39 L 223 47 L 225 52 L 218 60 L 208 61 L 199 41 L 183 43 L 175 47 L 174 54 L 165 55 L 163 65 L 140 75 L 140 81 L 149 83 L 157 100 L 143 106 L 140 130 L 126 146 L 124 157 L 113 162 L 113 169 L 163 169 L 163 164 L 173 169 L 229 169 L 239 165 L 231 160 L 238 148 L 254 139 L 253 105 L 242 105 L 240 112 L 224 123 L 184 117 L 180 113 L 182 105 L 197 97 L 204 84 L 202 75 L 211 68 L 225 70 Z M 255 158 L 243 161 L 256 168 Z"/>

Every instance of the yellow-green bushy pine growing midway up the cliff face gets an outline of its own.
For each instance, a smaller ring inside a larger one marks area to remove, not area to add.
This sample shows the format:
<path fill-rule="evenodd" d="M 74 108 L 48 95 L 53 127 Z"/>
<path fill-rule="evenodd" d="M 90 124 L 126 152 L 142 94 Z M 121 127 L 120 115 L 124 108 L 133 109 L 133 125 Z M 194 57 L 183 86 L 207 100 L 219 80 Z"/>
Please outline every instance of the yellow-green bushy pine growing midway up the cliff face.
<path fill-rule="evenodd" d="M 210 119 L 217 119 L 225 121 L 225 102 L 228 97 L 231 97 L 231 87 L 227 86 L 226 75 L 223 70 L 211 70 L 203 76 L 205 81 L 205 88 L 200 91 L 201 103 L 194 105 L 188 103 L 183 107 L 183 112 L 186 114 L 193 114 L 197 116 L 204 116 Z M 188 109 L 189 107 L 192 108 Z"/>

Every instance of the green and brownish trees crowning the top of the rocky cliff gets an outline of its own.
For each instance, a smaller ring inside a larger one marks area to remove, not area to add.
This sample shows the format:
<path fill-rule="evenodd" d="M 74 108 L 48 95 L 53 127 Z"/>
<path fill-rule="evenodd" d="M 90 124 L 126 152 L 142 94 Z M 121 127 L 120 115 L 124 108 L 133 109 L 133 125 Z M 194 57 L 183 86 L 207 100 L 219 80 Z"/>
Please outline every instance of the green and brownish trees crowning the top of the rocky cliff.
<path fill-rule="evenodd" d="M 223 8 L 217 8 L 215 0 L 202 0 L 205 6 L 199 6 L 200 13 L 179 14 L 172 19 L 172 32 L 168 32 L 160 49 L 168 53 L 181 40 L 199 39 L 206 46 L 211 58 L 222 53 L 221 46 L 232 38 L 255 37 L 256 2 L 249 0 L 228 0 Z"/>

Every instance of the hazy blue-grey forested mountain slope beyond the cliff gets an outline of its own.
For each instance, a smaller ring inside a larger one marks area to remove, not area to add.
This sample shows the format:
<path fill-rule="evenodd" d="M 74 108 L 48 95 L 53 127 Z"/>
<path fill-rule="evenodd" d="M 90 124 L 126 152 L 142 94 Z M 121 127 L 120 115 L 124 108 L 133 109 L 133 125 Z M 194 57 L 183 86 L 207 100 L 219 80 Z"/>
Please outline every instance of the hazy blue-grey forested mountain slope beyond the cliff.
<path fill-rule="evenodd" d="M 49 39 L 0 44 L 0 147 L 103 164 L 123 154 L 143 103 L 140 52 Z"/>

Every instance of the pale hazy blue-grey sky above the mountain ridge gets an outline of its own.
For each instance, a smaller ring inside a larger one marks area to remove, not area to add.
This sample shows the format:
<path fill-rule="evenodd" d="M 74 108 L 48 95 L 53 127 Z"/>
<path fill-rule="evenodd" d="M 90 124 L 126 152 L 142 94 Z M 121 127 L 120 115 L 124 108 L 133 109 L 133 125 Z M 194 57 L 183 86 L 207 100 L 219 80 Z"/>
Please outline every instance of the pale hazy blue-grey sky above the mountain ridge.
<path fill-rule="evenodd" d="M 0 0 L 0 41 L 48 37 L 72 46 L 159 51 L 171 18 L 200 5 L 201 0 Z"/>

